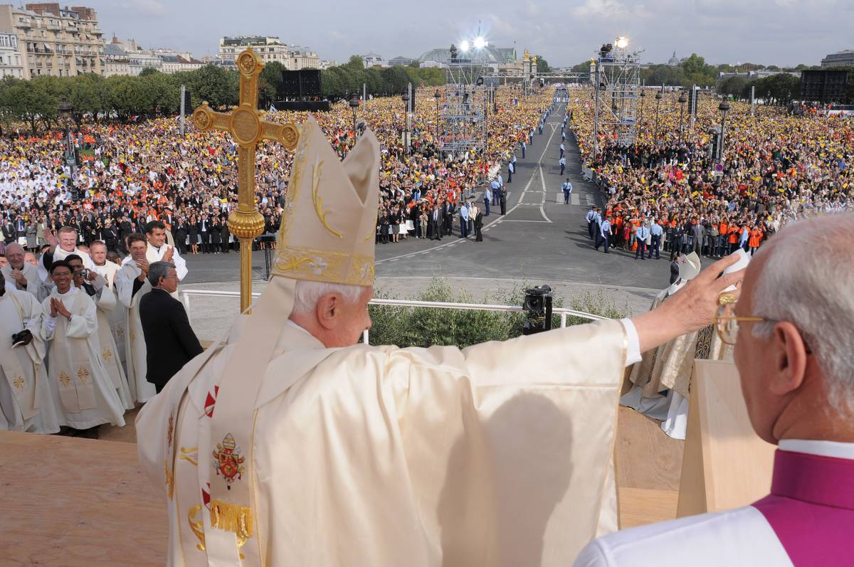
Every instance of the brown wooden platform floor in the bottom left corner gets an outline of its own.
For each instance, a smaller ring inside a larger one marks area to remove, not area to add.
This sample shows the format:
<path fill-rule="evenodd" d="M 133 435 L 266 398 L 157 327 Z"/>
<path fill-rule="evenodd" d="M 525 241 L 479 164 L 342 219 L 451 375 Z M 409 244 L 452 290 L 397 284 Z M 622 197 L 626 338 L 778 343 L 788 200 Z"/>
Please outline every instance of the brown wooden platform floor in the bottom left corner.
<path fill-rule="evenodd" d="M 133 443 L 0 432 L 0 565 L 165 565 L 167 512 Z"/>

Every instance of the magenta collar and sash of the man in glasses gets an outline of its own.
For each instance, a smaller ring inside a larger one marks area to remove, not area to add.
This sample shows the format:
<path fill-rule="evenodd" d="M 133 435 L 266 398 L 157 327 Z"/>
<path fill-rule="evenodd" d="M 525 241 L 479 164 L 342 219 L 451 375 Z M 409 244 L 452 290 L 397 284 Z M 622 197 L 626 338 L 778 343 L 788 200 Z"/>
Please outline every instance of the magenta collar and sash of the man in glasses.
<path fill-rule="evenodd" d="M 778 449 L 771 494 L 753 507 L 795 567 L 854 564 L 854 460 Z"/>

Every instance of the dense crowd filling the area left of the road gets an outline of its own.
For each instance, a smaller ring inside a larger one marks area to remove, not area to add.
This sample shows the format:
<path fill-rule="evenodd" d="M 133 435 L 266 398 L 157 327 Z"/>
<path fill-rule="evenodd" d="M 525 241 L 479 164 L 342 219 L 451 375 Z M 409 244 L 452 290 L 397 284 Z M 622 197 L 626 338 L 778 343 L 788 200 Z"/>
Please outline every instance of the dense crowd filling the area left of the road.
<path fill-rule="evenodd" d="M 357 119 L 377 134 L 383 151 L 377 240 L 427 237 L 422 230 L 427 228 L 426 213 L 459 210 L 520 143 L 523 132 L 534 130 L 551 102 L 550 92 L 543 89 L 519 101 L 516 91 L 500 89 L 497 112 L 488 116 L 488 149 L 477 155 L 442 154 L 433 91 L 418 91 L 408 151 L 401 136 L 406 127 L 401 99 L 362 101 Z M 338 102 L 315 118 L 336 151 L 346 155 L 354 140 L 348 104 Z M 306 113 L 266 114 L 266 120 L 277 122 L 306 119 Z M 22 131 L 23 126 L 17 132 Z M 74 129 L 73 140 L 82 159 L 71 172 L 65 166 L 62 132 L 0 139 L 5 242 L 37 249 L 46 242 L 45 231 L 68 225 L 78 229 L 81 243 L 100 240 L 111 252 L 126 252 L 126 237 L 159 219 L 183 254 L 237 248 L 226 222 L 237 202 L 237 146 L 227 134 L 188 126 L 182 136 L 178 120 L 159 119 L 130 125 L 85 123 Z M 256 161 L 256 199 L 266 232 L 272 234 L 281 219 L 291 155 L 278 143 L 263 143 Z M 275 246 L 256 244 L 267 245 Z"/>

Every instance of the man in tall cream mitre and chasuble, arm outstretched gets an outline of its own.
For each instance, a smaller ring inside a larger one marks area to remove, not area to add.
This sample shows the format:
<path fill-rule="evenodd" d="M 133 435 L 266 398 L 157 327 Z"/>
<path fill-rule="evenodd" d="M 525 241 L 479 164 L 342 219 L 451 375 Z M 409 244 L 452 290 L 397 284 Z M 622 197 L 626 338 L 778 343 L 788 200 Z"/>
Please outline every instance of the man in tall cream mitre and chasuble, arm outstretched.
<path fill-rule="evenodd" d="M 688 305 L 705 324 L 725 282 L 707 274 L 623 324 L 465 350 L 356 345 L 370 327 L 377 139 L 339 162 L 309 119 L 295 155 L 253 314 L 137 418 L 140 463 L 167 498 L 169 564 L 557 565 L 615 529 L 629 345 L 696 328 Z"/>

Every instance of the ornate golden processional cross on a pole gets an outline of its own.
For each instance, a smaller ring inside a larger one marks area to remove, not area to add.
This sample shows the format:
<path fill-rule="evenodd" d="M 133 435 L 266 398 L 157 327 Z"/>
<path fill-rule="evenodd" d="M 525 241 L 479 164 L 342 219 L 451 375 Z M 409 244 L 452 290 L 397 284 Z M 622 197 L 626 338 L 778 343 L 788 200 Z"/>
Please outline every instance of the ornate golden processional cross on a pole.
<path fill-rule="evenodd" d="M 193 112 L 193 122 L 202 132 L 228 132 L 237 143 L 237 210 L 228 217 L 228 230 L 240 240 L 240 311 L 252 303 L 252 241 L 264 232 L 264 217 L 255 205 L 255 148 L 263 140 L 275 140 L 295 149 L 300 132 L 294 124 L 260 120 L 258 75 L 264 68 L 258 54 L 245 50 L 235 61 L 240 71 L 240 106 L 231 113 L 214 112 L 208 102 Z"/>

